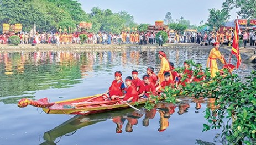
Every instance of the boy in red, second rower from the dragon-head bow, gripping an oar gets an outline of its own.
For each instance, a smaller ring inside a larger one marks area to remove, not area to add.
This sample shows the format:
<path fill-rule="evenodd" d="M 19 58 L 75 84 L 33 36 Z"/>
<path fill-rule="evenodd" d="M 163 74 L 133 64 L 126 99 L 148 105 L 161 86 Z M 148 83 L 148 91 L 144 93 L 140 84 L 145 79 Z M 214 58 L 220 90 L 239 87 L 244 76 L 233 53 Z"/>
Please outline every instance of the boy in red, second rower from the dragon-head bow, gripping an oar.
<path fill-rule="evenodd" d="M 125 89 L 125 92 L 126 94 L 124 94 L 124 96 L 116 96 L 116 95 L 113 95 L 111 96 L 111 99 L 114 100 L 114 99 L 122 99 L 122 101 L 120 102 L 117 102 L 117 104 L 119 103 L 123 103 L 123 102 L 135 102 L 138 100 L 139 96 L 138 96 L 138 92 L 136 90 L 136 87 L 135 85 L 133 84 L 133 79 L 132 77 L 128 76 L 126 77 L 126 89 Z"/>

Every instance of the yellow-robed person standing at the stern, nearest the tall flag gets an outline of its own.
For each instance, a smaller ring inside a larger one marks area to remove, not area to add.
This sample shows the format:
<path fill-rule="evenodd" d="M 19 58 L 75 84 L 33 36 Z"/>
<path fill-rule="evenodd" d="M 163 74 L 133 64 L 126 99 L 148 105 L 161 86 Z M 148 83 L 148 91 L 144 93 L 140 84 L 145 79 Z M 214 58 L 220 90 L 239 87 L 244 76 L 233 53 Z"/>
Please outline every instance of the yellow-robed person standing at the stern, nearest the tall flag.
<path fill-rule="evenodd" d="M 219 71 L 216 59 L 221 60 L 221 62 L 225 64 L 224 56 L 221 55 L 221 52 L 218 50 L 218 48 L 220 47 L 220 43 L 216 42 L 214 43 L 214 46 L 215 48 L 212 48 L 209 54 L 209 57 L 207 59 L 207 65 L 206 65 L 207 68 L 210 68 L 212 78 L 215 77 L 216 72 Z"/>

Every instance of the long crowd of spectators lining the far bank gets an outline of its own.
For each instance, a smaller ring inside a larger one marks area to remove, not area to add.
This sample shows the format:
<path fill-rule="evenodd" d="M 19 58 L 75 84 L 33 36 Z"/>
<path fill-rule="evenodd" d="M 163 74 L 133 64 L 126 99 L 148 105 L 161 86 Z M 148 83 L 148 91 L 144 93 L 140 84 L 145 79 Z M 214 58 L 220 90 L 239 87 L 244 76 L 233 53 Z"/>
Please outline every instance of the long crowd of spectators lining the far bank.
<path fill-rule="evenodd" d="M 232 38 L 234 36 L 233 30 L 227 32 L 171 32 L 168 31 L 168 40 L 166 43 L 196 43 L 201 45 L 213 45 L 215 42 L 220 42 L 223 44 L 232 43 Z M 35 35 L 21 32 L 20 34 L 15 34 L 20 37 L 20 44 L 163 44 L 162 36 L 158 36 L 158 42 L 156 42 L 156 31 L 146 31 L 146 32 L 124 32 L 120 34 L 112 34 L 105 32 L 98 32 L 97 34 L 88 32 L 83 33 L 87 35 L 85 42 L 81 42 L 79 35 L 81 32 L 74 33 L 37 33 Z M 250 46 L 256 46 L 256 31 L 244 31 L 241 34 L 241 40 L 243 40 L 244 47 L 247 43 Z M 0 35 L 0 44 L 8 44 L 9 35 Z"/>

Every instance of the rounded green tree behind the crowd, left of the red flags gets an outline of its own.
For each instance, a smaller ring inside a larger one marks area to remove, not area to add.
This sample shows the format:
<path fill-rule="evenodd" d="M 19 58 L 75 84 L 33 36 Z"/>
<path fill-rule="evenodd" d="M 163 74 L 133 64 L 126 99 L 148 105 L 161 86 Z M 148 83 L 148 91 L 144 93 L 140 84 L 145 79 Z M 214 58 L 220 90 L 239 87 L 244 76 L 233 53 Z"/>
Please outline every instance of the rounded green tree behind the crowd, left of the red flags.
<path fill-rule="evenodd" d="M 228 11 L 225 9 L 216 10 L 209 9 L 209 18 L 207 20 L 207 25 L 213 30 L 218 30 L 220 26 L 229 18 Z"/>

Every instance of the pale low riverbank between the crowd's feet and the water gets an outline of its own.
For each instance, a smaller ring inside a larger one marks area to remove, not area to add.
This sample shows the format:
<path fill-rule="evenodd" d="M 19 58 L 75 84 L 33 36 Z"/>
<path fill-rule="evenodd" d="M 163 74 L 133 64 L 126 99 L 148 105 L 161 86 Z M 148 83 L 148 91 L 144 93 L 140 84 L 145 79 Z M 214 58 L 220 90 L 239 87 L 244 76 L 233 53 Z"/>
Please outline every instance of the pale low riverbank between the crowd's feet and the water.
<path fill-rule="evenodd" d="M 101 50 L 122 50 L 122 49 L 156 49 L 159 48 L 157 44 L 153 45 L 143 45 L 140 46 L 138 44 L 124 44 L 124 45 L 102 45 L 102 44 L 61 44 L 60 46 L 56 46 L 53 44 L 38 44 L 36 46 L 32 46 L 30 44 L 19 44 L 19 46 L 12 45 L 0 45 L 0 52 L 34 52 L 34 51 L 101 51 Z M 179 43 L 179 44 L 164 44 L 163 48 L 200 48 L 200 49 L 211 49 L 212 46 L 199 46 L 198 44 L 192 43 Z M 231 46 L 224 46 L 226 51 L 231 51 Z M 256 47 L 247 48 L 241 47 L 240 53 L 243 61 L 255 62 L 256 63 Z"/>

